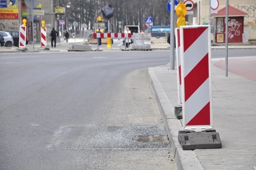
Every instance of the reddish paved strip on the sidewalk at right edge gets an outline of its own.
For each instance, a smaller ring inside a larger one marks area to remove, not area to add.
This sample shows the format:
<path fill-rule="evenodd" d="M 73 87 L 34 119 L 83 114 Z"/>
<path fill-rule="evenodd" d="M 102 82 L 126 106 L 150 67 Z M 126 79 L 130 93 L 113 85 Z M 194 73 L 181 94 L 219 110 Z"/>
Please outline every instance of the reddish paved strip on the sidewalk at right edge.
<path fill-rule="evenodd" d="M 225 70 L 225 60 L 214 62 L 213 65 Z M 256 57 L 229 58 L 228 72 L 256 82 Z"/>

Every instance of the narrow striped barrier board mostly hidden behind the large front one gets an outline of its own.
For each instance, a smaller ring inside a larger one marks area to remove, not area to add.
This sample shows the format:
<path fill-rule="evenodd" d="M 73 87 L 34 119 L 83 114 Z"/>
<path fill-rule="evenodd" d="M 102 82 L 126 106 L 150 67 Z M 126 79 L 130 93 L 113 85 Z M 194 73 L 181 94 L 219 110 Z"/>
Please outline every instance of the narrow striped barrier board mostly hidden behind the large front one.
<path fill-rule="evenodd" d="M 178 82 L 178 105 L 182 105 L 182 85 L 181 85 L 181 61 L 180 61 L 180 29 L 175 28 L 176 43 L 176 68 Z"/>

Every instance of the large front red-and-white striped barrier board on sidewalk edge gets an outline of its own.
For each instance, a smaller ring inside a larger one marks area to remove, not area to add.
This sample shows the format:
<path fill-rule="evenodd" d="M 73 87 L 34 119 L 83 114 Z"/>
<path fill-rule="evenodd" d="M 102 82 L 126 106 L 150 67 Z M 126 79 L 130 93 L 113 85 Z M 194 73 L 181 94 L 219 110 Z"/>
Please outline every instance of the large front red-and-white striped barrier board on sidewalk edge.
<path fill-rule="evenodd" d="M 185 130 L 212 126 L 210 25 L 180 27 L 182 118 Z"/>

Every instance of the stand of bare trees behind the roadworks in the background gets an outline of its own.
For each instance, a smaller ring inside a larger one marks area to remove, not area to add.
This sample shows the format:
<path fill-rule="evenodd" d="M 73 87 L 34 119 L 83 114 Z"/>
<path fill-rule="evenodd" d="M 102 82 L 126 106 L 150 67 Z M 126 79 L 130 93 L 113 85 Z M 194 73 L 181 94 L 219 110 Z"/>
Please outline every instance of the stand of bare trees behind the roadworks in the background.
<path fill-rule="evenodd" d="M 110 18 L 114 32 L 119 30 L 118 21 L 122 21 L 122 26 L 139 25 L 141 29 L 146 29 L 146 17 L 154 18 L 154 25 L 170 25 L 167 0 L 76 0 L 72 1 L 68 20 L 89 26 L 98 16 L 102 16 L 101 9 L 109 4 L 114 8 L 114 16 Z"/>

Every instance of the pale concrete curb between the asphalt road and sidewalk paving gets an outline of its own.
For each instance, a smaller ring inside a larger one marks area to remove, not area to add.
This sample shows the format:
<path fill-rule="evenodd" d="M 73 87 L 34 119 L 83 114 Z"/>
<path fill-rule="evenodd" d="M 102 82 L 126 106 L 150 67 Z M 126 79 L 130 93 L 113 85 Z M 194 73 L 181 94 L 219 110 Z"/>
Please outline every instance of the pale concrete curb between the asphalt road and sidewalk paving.
<path fill-rule="evenodd" d="M 176 70 L 170 70 L 176 72 Z M 170 140 L 171 150 L 178 170 L 203 170 L 194 150 L 183 150 L 178 141 L 178 130 L 183 130 L 180 120 L 174 114 L 172 106 L 156 74 L 154 68 L 148 68 L 148 77 L 154 90 L 158 108 L 162 116 L 166 132 Z"/>

